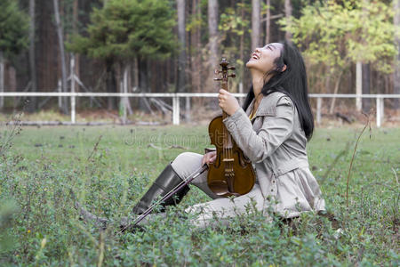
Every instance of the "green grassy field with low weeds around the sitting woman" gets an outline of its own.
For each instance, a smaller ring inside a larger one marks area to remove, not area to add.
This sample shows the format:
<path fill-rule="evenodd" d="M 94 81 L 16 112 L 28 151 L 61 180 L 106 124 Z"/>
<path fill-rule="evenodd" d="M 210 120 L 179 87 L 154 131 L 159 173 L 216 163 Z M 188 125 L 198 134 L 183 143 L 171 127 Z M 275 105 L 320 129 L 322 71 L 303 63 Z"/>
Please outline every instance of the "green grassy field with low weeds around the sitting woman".
<path fill-rule="evenodd" d="M 347 207 L 360 131 L 317 128 L 308 143 L 310 168 L 336 225 L 312 213 L 292 225 L 248 214 L 230 228 L 196 231 L 176 216 L 209 200 L 192 187 L 167 220 L 119 233 L 80 221 L 70 189 L 94 214 L 118 221 L 169 161 L 210 147 L 207 127 L 23 127 L 1 152 L 0 264 L 398 266 L 400 128 L 372 129 L 371 138 L 364 133 Z M 1 128 L 3 145 L 10 134 Z"/>

